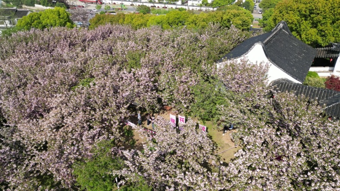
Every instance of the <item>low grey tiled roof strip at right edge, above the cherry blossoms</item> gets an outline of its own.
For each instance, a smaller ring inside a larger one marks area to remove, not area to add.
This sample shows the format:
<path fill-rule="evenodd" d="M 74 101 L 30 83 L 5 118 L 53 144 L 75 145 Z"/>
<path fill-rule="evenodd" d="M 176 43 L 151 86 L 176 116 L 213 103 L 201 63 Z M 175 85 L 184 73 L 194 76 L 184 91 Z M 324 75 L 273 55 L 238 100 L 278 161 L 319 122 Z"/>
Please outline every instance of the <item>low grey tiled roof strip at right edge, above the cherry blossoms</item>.
<path fill-rule="evenodd" d="M 309 100 L 317 100 L 326 114 L 340 118 L 339 91 L 302 85 L 287 79 L 272 81 L 270 86 L 276 92 L 295 92 L 295 95 L 304 95 Z"/>

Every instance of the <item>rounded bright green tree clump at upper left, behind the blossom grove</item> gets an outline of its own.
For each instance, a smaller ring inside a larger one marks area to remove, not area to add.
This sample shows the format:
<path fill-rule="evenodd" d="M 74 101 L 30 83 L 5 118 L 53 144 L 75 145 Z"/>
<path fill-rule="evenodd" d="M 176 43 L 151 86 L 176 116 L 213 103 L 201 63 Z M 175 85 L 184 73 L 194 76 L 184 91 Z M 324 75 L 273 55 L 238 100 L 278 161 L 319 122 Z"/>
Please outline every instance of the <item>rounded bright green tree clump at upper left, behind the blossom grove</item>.
<path fill-rule="evenodd" d="M 31 28 L 43 30 L 55 26 L 73 28 L 75 24 L 72 22 L 69 12 L 64 8 L 55 7 L 23 16 L 18 20 L 16 26 L 24 30 L 30 30 Z"/>

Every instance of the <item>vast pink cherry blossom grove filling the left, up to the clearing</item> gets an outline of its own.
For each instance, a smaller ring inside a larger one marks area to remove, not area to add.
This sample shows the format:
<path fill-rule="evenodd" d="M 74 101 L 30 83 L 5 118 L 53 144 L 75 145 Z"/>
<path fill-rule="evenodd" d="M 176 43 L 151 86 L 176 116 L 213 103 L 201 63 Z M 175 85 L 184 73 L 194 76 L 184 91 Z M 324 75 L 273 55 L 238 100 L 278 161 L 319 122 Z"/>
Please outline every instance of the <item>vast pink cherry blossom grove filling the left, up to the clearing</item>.
<path fill-rule="evenodd" d="M 94 157 L 93 145 L 114 139 L 117 148 L 123 146 L 122 121 L 135 115 L 133 102 L 147 110 L 160 104 L 189 108 L 189 87 L 199 79 L 195 69 L 204 71 L 247 36 L 233 27 L 195 32 L 107 25 L 32 29 L 0 39 L 0 111 L 6 121 L 1 185 L 75 189 L 72 165 Z"/>

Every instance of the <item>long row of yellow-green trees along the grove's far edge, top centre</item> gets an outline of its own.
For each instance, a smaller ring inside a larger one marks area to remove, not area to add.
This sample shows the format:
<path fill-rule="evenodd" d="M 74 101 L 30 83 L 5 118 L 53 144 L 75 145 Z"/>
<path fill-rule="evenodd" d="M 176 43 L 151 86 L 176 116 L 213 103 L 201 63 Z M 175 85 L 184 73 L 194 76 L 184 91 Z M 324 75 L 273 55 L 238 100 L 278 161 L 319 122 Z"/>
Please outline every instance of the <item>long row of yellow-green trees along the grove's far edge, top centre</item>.
<path fill-rule="evenodd" d="M 213 11 L 193 14 L 189 11 L 172 10 L 166 15 L 154 14 L 125 14 L 125 15 L 96 15 L 90 20 L 90 29 L 107 23 L 128 24 L 134 29 L 159 25 L 163 29 L 187 26 L 190 29 L 202 29 L 209 23 L 220 24 L 229 28 L 232 24 L 241 30 L 249 30 L 253 22 L 250 11 L 236 5 L 225 6 L 223 11 Z M 153 9 L 151 10 L 153 11 Z"/>

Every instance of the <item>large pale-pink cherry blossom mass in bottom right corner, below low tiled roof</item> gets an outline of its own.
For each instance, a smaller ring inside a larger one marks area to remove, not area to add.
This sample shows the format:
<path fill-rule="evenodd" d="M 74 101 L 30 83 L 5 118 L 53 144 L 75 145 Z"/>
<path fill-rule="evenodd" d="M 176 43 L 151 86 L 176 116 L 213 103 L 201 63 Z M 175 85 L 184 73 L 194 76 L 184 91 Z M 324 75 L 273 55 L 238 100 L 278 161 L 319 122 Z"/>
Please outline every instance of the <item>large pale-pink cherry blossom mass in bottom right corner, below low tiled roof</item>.
<path fill-rule="evenodd" d="M 243 111 L 234 114 L 244 120 L 232 134 L 243 148 L 223 169 L 230 189 L 339 189 L 340 124 L 324 117 L 316 102 L 279 93 Z"/>

